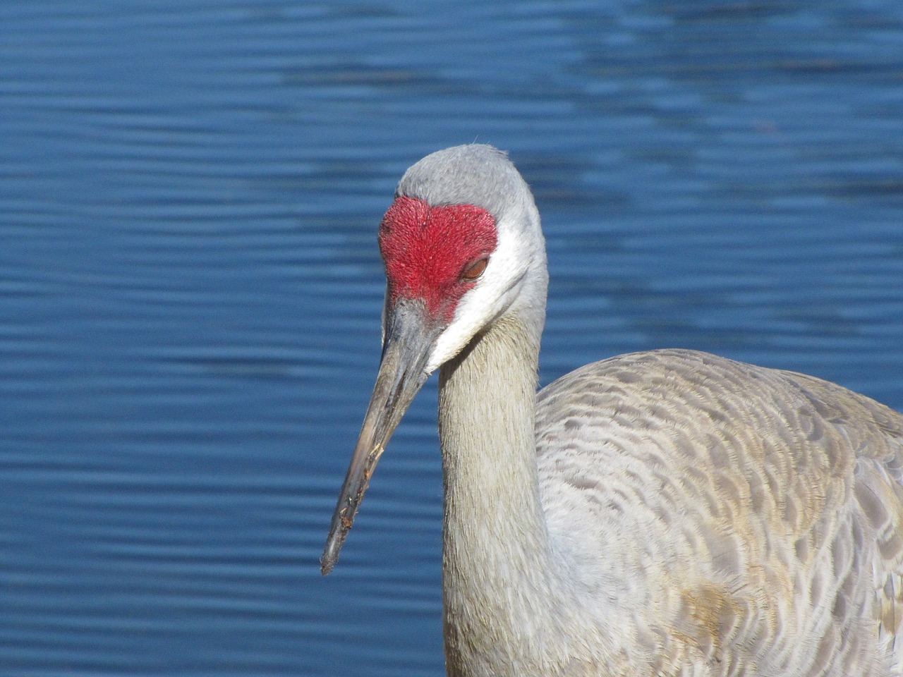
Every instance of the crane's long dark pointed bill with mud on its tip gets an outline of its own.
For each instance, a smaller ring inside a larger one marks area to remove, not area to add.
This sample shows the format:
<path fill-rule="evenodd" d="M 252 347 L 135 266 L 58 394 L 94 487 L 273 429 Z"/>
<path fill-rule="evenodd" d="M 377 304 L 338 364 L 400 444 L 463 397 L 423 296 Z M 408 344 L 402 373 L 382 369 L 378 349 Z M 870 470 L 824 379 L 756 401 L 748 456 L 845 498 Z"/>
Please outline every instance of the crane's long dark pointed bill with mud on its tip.
<path fill-rule="evenodd" d="M 380 454 L 414 395 L 429 376 L 424 373 L 424 367 L 433 342 L 442 329 L 438 324 L 416 301 L 398 301 L 391 315 L 386 316 L 386 338 L 377 385 L 370 396 L 367 415 L 351 456 L 339 502 L 332 515 L 330 535 L 320 559 L 320 570 L 324 576 L 339 559 L 342 543 L 345 543 L 345 536 L 354 522 Z"/>

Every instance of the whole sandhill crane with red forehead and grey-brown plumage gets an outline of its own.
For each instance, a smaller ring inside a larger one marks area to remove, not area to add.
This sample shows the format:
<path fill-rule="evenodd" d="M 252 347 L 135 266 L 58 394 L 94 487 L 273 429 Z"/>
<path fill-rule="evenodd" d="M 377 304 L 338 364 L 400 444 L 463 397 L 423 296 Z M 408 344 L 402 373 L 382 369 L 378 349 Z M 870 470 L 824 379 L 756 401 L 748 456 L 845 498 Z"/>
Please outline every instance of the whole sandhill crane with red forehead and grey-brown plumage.
<path fill-rule="evenodd" d="M 438 368 L 449 675 L 903 674 L 903 416 L 689 350 L 536 394 L 545 242 L 491 146 L 415 163 L 378 239 L 383 354 L 324 574 Z"/>

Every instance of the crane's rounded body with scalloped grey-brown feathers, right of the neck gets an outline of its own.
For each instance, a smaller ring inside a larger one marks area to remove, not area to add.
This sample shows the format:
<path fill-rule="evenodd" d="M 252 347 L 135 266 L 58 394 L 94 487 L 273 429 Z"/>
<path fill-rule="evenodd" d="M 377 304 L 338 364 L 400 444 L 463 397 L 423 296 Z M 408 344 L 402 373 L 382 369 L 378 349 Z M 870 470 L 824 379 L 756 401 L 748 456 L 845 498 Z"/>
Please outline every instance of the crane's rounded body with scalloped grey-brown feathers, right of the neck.
<path fill-rule="evenodd" d="M 635 638 L 652 670 L 903 673 L 903 415 L 662 350 L 546 387 L 536 440 L 575 593 L 608 599 L 592 622 Z"/>

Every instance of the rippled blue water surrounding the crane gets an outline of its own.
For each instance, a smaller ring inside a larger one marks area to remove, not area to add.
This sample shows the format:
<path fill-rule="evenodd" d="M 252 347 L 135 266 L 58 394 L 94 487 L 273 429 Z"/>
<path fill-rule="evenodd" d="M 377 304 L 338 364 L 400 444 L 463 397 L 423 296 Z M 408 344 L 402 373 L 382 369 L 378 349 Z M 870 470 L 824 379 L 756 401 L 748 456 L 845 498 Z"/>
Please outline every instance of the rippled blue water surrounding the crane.
<path fill-rule="evenodd" d="M 405 167 L 496 144 L 541 378 L 702 348 L 903 409 L 898 0 L 0 5 L 0 674 L 440 675 L 435 383 L 318 570 Z"/>

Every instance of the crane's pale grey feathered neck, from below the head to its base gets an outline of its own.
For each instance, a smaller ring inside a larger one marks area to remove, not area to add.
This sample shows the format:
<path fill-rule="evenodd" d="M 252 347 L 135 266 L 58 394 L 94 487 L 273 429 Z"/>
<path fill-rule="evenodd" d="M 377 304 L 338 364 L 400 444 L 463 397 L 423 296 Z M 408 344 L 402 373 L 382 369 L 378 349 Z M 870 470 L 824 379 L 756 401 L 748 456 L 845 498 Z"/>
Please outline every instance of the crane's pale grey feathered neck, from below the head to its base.
<path fill-rule="evenodd" d="M 439 372 L 449 677 L 615 675 L 633 641 L 624 609 L 612 613 L 578 582 L 579 562 L 545 521 L 535 442 L 541 327 L 541 316 L 510 313 Z"/>

